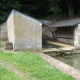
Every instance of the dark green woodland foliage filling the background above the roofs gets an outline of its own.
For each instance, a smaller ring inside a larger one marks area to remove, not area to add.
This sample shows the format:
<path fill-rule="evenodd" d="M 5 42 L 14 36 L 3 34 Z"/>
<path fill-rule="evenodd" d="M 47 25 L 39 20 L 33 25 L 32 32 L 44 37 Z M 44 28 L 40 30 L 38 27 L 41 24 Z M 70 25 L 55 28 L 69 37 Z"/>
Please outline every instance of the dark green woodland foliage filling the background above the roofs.
<path fill-rule="evenodd" d="M 73 5 L 69 8 L 69 5 Z M 72 10 L 74 14 L 80 14 L 80 0 L 0 0 L 0 23 L 6 21 L 12 9 L 16 9 L 36 18 L 53 15 L 61 18 L 69 15 Z"/>

